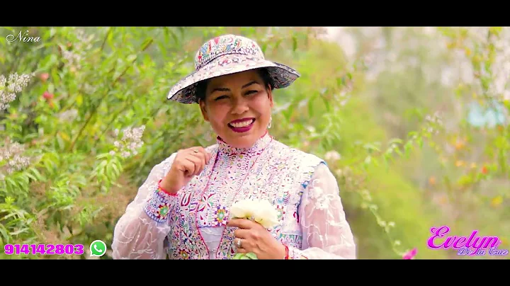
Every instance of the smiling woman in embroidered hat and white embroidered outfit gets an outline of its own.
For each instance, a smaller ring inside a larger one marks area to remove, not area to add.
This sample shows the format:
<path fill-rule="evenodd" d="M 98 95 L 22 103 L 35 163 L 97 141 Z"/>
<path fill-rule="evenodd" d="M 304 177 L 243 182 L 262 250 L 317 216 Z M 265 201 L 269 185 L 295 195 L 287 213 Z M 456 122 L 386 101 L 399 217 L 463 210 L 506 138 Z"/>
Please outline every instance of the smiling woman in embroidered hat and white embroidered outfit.
<path fill-rule="evenodd" d="M 339 188 L 325 162 L 268 134 L 273 89 L 299 77 L 264 59 L 256 42 L 223 35 L 205 42 L 196 71 L 168 99 L 199 103 L 217 144 L 182 149 L 154 166 L 118 221 L 113 258 L 356 258 Z M 228 219 L 232 203 L 269 200 L 280 224 Z"/>

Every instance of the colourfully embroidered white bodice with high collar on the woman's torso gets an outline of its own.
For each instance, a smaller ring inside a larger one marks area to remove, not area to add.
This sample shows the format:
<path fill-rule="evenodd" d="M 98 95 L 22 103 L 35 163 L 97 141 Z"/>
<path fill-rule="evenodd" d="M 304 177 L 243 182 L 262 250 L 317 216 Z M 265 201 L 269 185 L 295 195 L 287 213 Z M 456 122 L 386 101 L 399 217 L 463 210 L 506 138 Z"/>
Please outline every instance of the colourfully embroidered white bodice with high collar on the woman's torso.
<path fill-rule="evenodd" d="M 301 248 L 297 207 L 315 168 L 324 161 L 268 135 L 248 153 L 227 148 L 221 142 L 207 150 L 212 156 L 204 171 L 172 200 L 168 214 L 169 257 L 208 259 L 209 249 L 200 227 L 225 226 L 229 207 L 246 198 L 265 199 L 275 205 L 280 211 L 280 224 L 271 229 L 271 234 L 288 246 Z M 234 256 L 233 241 L 234 228 L 226 227 L 215 250 L 218 259 Z"/>

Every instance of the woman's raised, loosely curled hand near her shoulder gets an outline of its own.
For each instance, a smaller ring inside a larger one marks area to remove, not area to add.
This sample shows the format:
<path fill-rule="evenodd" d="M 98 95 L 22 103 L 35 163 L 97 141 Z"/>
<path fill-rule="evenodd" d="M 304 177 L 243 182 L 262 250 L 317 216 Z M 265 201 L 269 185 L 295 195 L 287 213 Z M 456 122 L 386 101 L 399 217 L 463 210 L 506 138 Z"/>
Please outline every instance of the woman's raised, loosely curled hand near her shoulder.
<path fill-rule="evenodd" d="M 161 182 L 162 188 L 169 193 L 177 193 L 184 185 L 189 183 L 193 176 L 202 173 L 205 164 L 208 164 L 211 154 L 203 147 L 191 147 L 177 151 L 170 171 Z"/>

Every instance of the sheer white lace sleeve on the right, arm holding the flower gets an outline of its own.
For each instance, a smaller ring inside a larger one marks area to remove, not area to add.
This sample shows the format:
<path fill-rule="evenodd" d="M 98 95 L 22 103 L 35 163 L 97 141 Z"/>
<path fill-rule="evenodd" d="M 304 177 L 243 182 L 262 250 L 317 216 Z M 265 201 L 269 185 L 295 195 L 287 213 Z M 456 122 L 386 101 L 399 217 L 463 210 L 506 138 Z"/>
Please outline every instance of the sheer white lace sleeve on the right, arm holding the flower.
<path fill-rule="evenodd" d="M 356 259 L 351 227 L 339 187 L 325 164 L 317 167 L 298 208 L 302 250 L 289 247 L 289 259 Z"/>

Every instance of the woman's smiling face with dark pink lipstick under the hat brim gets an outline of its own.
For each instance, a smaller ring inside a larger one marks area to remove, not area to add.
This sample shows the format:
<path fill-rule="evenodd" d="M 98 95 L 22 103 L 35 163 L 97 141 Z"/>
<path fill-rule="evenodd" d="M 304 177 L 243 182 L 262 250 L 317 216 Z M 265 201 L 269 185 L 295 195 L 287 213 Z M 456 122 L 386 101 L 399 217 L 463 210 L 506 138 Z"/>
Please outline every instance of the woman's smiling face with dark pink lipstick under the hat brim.
<path fill-rule="evenodd" d="M 271 90 L 257 71 L 210 79 L 200 109 L 227 144 L 251 147 L 267 131 L 273 107 Z"/>

